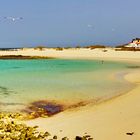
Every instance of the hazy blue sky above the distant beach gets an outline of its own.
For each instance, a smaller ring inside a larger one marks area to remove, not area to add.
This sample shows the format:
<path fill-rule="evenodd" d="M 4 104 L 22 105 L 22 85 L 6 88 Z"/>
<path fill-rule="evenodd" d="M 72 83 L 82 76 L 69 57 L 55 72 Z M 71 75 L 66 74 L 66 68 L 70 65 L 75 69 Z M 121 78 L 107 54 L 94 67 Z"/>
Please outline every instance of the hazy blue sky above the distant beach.
<path fill-rule="evenodd" d="M 140 0 L 0 0 L 0 48 L 128 43 L 140 37 L 139 6 Z"/>

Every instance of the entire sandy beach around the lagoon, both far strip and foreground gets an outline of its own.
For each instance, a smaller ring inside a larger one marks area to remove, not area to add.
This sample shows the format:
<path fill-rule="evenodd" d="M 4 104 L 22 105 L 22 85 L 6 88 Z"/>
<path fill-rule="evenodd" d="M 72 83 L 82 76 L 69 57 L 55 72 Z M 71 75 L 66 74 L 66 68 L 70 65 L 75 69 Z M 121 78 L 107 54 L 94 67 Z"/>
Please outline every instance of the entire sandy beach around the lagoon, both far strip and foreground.
<path fill-rule="evenodd" d="M 108 49 L 69 49 L 56 51 L 47 49 L 35 51 L 0 51 L 0 55 L 48 56 L 54 58 L 101 59 L 113 61 L 140 62 L 140 52 L 115 51 Z M 140 139 L 140 73 L 134 69 L 124 77 L 135 84 L 128 93 L 97 105 L 87 105 L 76 110 L 68 110 L 50 118 L 38 118 L 25 123 L 38 125 L 39 130 L 73 139 L 85 133 L 95 140 L 139 140 Z M 132 133 L 127 135 L 126 133 Z"/>

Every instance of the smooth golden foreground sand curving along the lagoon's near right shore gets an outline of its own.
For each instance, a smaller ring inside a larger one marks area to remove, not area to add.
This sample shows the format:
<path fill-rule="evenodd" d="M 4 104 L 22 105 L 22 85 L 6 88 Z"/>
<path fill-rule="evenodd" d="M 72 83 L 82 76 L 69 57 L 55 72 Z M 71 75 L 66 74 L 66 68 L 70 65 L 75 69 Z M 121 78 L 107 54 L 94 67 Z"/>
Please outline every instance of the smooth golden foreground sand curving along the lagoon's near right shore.
<path fill-rule="evenodd" d="M 88 105 L 80 110 L 65 111 L 51 118 L 38 118 L 25 123 L 29 126 L 38 125 L 40 131 L 47 129 L 59 138 L 68 136 L 73 139 L 75 135 L 88 133 L 98 140 L 127 140 L 131 137 L 138 140 L 140 138 L 139 77 L 138 71 L 127 74 L 125 78 L 135 83 L 136 87 L 101 104 Z M 127 136 L 126 133 L 129 132 L 134 132 L 134 135 Z"/>

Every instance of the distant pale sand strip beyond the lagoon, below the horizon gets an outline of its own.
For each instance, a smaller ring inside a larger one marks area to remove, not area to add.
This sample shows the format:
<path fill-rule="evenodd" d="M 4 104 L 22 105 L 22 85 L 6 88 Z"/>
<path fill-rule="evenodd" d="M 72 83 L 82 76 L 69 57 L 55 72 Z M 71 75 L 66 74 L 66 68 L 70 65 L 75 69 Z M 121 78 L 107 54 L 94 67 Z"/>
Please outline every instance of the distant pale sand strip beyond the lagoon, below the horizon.
<path fill-rule="evenodd" d="M 109 59 L 109 60 L 129 60 L 140 62 L 140 51 L 115 51 L 108 48 L 107 52 L 103 49 L 64 49 L 63 51 L 56 51 L 55 49 L 46 49 L 45 51 L 38 51 L 34 49 L 19 50 L 19 51 L 0 51 L 0 55 L 29 55 L 29 56 L 48 56 L 56 58 L 84 58 L 84 59 Z"/>

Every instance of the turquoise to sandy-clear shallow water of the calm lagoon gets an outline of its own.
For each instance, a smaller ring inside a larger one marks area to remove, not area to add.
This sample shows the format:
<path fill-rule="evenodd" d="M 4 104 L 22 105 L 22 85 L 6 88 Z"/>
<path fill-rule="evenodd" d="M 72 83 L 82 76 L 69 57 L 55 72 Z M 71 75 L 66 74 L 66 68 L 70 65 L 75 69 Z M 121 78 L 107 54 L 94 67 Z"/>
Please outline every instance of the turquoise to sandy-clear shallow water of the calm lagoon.
<path fill-rule="evenodd" d="M 115 96 L 132 85 L 122 78 L 129 64 L 93 60 L 0 60 L 0 109 L 37 100 L 66 103 Z"/>

